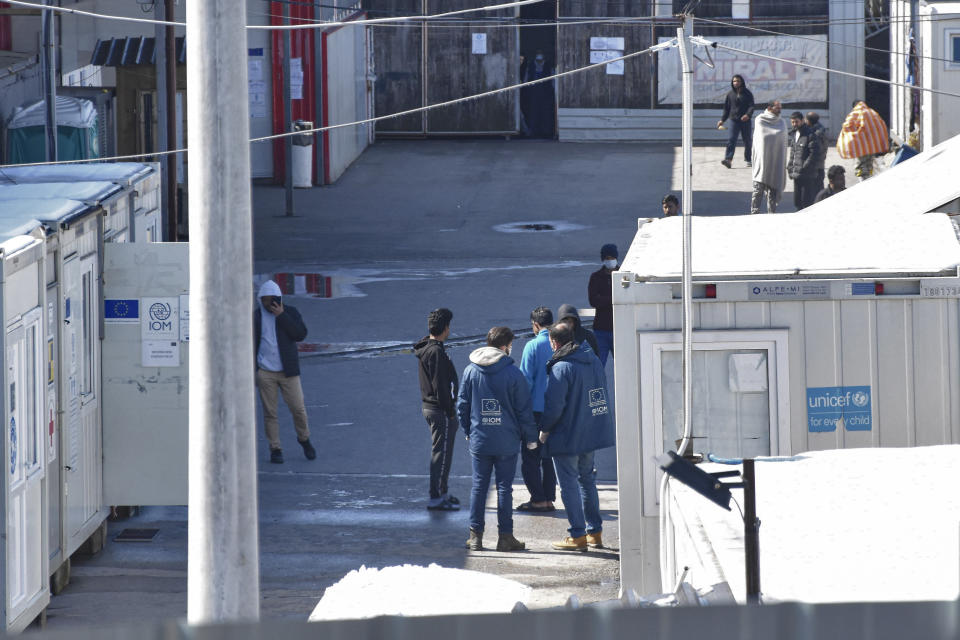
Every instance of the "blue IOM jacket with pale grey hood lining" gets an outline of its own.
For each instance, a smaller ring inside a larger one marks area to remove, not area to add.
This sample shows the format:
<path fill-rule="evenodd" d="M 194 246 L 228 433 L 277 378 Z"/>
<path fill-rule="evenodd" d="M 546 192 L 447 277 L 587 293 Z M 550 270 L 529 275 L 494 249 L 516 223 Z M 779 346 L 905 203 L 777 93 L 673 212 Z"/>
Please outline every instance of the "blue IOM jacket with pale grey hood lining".
<path fill-rule="evenodd" d="M 457 399 L 460 428 L 470 438 L 470 453 L 507 456 L 536 442 L 530 388 L 513 358 L 494 347 L 470 354 Z"/>

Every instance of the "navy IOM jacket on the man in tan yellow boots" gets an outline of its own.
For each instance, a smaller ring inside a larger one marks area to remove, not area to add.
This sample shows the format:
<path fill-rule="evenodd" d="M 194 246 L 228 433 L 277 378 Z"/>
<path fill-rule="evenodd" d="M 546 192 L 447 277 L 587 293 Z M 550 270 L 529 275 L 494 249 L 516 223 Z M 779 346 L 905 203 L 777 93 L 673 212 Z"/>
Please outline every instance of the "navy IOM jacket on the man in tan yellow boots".
<path fill-rule="evenodd" d="M 547 365 L 541 431 L 550 434 L 546 455 L 571 456 L 616 444 L 600 360 L 573 343 L 564 345 Z"/>

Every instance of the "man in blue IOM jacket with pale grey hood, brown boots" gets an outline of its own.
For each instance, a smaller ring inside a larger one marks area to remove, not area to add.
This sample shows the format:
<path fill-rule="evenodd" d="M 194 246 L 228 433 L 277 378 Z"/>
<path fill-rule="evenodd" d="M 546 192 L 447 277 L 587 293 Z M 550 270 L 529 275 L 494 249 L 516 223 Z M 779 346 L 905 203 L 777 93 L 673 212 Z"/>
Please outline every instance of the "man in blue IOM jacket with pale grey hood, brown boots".
<path fill-rule="evenodd" d="M 521 446 L 537 447 L 537 426 L 530 409 L 530 387 L 513 364 L 513 332 L 494 327 L 487 346 L 470 354 L 463 371 L 457 417 L 470 441 L 473 490 L 470 492 L 470 538 L 467 548 L 483 549 L 484 508 L 490 475 L 497 478 L 497 551 L 520 551 L 513 537 L 513 477 Z"/>

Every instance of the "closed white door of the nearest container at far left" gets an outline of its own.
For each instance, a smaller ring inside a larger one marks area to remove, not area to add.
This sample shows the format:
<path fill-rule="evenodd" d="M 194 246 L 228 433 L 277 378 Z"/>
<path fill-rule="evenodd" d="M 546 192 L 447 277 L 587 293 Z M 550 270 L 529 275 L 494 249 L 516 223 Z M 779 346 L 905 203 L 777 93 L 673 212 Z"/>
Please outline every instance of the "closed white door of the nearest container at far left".
<path fill-rule="evenodd" d="M 40 318 L 37 307 L 8 328 L 6 336 L 8 625 L 47 592 Z"/>

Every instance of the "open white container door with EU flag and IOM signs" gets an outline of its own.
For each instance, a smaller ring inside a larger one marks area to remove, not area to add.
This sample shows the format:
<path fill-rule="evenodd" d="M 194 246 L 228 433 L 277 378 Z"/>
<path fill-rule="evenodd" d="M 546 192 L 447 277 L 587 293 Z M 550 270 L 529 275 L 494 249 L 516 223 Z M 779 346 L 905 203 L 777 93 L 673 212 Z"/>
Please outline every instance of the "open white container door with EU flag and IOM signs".
<path fill-rule="evenodd" d="M 104 245 L 106 504 L 187 504 L 189 246 Z"/>

